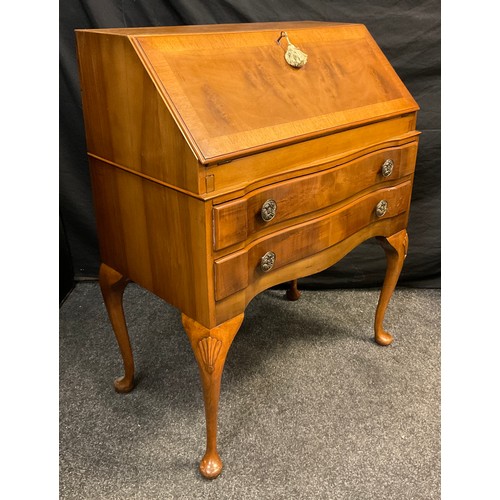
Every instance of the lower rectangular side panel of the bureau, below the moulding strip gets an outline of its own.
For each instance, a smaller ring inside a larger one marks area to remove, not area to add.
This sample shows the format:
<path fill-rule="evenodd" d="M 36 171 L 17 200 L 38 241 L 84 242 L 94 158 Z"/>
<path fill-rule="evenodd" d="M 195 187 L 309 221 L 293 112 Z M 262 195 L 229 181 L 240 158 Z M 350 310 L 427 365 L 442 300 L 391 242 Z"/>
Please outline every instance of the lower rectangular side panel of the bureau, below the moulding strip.
<path fill-rule="evenodd" d="M 213 326 L 211 204 L 94 158 L 90 166 L 101 261 Z"/>

